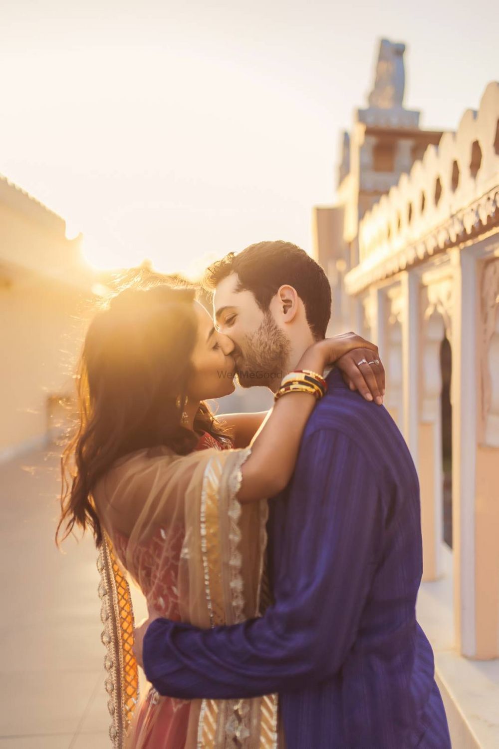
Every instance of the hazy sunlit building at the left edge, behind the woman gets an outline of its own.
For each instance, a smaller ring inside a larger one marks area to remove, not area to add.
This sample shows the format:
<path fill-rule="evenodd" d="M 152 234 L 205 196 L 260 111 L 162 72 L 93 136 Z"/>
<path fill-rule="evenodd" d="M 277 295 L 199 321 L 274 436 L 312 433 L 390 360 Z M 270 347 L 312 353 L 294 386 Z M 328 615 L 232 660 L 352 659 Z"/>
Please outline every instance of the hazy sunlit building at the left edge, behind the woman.
<path fill-rule="evenodd" d="M 0 177 L 0 461 L 64 423 L 94 282 L 64 220 Z"/>

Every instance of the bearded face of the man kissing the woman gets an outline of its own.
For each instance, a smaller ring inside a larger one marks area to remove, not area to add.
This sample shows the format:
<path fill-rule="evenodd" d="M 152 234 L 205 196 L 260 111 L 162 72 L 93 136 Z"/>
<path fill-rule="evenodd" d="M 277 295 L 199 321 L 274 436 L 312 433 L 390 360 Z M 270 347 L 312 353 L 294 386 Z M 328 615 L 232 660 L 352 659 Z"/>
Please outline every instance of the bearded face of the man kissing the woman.
<path fill-rule="evenodd" d="M 242 387 L 263 385 L 275 389 L 290 357 L 290 340 L 272 313 L 262 312 L 251 291 L 236 291 L 238 276 L 221 281 L 213 297 L 215 324 L 232 339 L 231 353 Z"/>

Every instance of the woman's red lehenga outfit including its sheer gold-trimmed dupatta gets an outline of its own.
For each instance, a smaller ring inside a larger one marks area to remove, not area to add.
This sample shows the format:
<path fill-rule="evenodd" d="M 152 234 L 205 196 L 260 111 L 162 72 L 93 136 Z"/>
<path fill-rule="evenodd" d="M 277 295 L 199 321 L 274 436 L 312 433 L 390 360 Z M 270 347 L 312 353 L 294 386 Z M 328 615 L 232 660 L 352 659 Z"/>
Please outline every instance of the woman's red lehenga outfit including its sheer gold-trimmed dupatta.
<path fill-rule="evenodd" d="M 168 619 L 209 627 L 257 616 L 267 507 L 266 502 L 237 502 L 249 453 L 204 433 L 195 453 L 185 458 L 161 447 L 121 458 L 97 491 L 105 528 L 100 569 L 106 688 L 116 749 L 277 746 L 275 695 L 178 700 L 150 688 L 137 704 L 133 616 L 121 569 L 135 578 L 149 610 Z M 183 471 L 188 485 L 177 478 Z M 140 517 L 123 532 L 120 518 L 133 512 Z"/>

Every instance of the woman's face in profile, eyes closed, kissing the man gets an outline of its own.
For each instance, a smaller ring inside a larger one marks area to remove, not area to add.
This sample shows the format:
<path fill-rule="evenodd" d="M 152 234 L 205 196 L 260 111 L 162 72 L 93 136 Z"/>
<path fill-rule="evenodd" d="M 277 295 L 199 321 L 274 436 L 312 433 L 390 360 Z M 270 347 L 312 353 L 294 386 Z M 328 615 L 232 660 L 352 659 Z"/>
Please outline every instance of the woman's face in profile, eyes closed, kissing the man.
<path fill-rule="evenodd" d="M 236 389 L 235 365 L 232 356 L 233 342 L 218 333 L 206 309 L 195 302 L 198 317 L 198 340 L 192 353 L 194 373 L 189 379 L 189 400 L 204 401 L 221 398 Z"/>

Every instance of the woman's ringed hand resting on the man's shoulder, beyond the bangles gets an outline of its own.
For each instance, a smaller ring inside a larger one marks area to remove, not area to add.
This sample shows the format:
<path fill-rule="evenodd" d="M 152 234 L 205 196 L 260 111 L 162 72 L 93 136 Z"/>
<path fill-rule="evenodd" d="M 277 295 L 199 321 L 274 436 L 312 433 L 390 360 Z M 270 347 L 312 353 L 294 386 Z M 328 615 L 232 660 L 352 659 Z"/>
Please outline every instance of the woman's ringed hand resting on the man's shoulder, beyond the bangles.
<path fill-rule="evenodd" d="M 378 347 L 355 333 L 343 333 L 318 341 L 307 348 L 297 369 L 313 369 L 322 374 L 335 364 L 351 390 L 358 390 L 367 401 L 383 402 L 385 369 Z"/>

